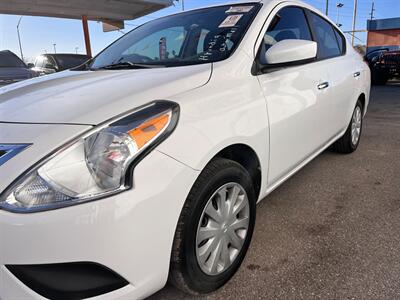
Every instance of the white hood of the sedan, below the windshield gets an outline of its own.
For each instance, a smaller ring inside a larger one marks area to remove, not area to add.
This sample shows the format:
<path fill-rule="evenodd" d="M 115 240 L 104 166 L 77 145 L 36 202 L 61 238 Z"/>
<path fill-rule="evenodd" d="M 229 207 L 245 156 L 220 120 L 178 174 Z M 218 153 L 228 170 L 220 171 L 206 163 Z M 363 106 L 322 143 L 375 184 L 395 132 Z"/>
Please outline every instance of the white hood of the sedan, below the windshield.
<path fill-rule="evenodd" d="M 0 122 L 97 125 L 154 100 L 205 85 L 211 64 L 64 71 L 0 88 Z"/>

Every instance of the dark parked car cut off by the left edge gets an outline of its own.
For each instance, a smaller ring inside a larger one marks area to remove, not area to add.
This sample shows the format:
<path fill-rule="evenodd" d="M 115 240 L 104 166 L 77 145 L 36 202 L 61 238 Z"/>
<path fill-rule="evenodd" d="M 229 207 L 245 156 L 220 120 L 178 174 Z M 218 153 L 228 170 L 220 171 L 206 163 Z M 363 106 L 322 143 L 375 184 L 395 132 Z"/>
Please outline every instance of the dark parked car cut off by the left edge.
<path fill-rule="evenodd" d="M 36 77 L 36 73 L 14 53 L 0 51 L 0 87 Z"/>

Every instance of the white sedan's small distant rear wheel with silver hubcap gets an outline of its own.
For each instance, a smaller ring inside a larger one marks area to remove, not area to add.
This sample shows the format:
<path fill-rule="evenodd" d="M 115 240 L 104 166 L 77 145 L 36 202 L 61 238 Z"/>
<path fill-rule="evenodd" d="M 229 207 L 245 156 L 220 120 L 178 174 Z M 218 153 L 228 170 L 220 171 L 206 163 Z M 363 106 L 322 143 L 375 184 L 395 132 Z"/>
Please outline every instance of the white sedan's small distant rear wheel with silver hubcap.
<path fill-rule="evenodd" d="M 361 101 L 358 100 L 346 133 L 344 134 L 344 136 L 336 141 L 336 143 L 333 145 L 333 148 L 337 152 L 344 154 L 349 154 L 356 151 L 358 145 L 360 144 L 362 126 L 363 106 L 361 104 Z"/>

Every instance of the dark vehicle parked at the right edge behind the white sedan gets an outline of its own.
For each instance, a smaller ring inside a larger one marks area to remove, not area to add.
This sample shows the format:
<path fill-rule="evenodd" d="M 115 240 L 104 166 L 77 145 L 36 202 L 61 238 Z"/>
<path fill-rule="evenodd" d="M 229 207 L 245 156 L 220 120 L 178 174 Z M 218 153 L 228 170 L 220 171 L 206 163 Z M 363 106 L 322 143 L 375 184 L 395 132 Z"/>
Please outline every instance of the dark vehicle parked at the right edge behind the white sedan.
<path fill-rule="evenodd" d="M 400 51 L 379 49 L 367 53 L 372 84 L 385 85 L 388 80 L 400 77 Z"/>

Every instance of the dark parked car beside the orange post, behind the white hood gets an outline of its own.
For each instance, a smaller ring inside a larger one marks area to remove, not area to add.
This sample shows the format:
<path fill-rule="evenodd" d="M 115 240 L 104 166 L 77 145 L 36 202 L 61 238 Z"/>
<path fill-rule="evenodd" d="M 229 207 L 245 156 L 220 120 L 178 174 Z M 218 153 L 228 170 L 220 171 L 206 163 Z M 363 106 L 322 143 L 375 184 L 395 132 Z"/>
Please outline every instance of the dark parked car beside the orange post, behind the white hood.
<path fill-rule="evenodd" d="M 36 58 L 32 70 L 39 75 L 47 75 L 72 69 L 89 60 L 81 54 L 43 54 Z"/>

